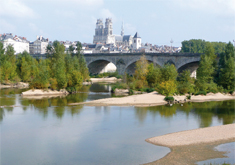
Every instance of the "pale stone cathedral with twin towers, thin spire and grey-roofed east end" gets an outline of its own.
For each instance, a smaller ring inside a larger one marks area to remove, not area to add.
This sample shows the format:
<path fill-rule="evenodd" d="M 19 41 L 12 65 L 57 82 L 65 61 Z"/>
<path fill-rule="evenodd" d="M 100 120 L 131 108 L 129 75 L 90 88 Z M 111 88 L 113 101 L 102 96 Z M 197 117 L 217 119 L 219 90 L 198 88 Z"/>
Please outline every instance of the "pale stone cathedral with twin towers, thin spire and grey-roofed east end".
<path fill-rule="evenodd" d="M 106 18 L 105 27 L 103 21 L 97 19 L 93 43 L 114 44 L 118 46 L 129 46 L 133 49 L 141 47 L 141 37 L 136 32 L 135 36 L 124 35 L 124 25 L 122 24 L 121 35 L 113 34 L 113 23 L 111 18 Z"/>

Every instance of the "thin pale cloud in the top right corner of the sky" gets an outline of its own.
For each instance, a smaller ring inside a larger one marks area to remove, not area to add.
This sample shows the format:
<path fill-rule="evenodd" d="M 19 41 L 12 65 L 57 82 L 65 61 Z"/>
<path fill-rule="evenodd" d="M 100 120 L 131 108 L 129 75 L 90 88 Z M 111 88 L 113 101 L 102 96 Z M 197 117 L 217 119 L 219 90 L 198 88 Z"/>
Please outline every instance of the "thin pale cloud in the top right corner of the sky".
<path fill-rule="evenodd" d="M 182 8 L 216 13 L 219 15 L 235 14 L 234 0 L 176 0 L 174 5 Z"/>

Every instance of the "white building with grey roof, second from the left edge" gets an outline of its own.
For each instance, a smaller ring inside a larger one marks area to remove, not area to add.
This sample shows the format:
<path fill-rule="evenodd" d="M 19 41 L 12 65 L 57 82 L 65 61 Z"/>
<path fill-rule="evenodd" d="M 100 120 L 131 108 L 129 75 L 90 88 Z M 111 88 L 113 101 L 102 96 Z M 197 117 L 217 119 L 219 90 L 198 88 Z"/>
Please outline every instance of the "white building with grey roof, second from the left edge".
<path fill-rule="evenodd" d="M 29 45 L 30 54 L 45 54 L 47 45 L 49 43 L 48 38 L 45 39 L 42 36 L 37 36 L 37 39 L 34 42 L 31 42 Z"/>

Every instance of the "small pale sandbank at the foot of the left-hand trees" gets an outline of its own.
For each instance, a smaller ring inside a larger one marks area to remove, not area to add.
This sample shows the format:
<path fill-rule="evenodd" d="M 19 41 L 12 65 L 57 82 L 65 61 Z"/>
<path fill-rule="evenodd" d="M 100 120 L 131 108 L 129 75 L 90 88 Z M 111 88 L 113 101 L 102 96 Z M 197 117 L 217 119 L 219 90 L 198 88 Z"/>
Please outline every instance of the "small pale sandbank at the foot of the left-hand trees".
<path fill-rule="evenodd" d="M 37 96 L 37 95 L 67 95 L 68 92 L 66 90 L 43 90 L 43 89 L 30 89 L 26 92 L 22 92 L 22 96 Z"/>

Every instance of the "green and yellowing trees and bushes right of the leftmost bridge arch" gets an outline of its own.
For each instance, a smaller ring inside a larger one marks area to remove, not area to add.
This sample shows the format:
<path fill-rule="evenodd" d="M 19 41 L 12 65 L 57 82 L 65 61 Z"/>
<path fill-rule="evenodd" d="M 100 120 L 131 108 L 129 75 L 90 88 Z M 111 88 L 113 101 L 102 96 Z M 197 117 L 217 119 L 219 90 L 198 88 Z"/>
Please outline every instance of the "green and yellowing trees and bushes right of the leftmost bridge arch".
<path fill-rule="evenodd" d="M 184 41 L 185 42 L 185 41 Z M 183 43 L 183 42 L 182 42 Z M 136 62 L 136 70 L 133 76 L 125 74 L 123 82 L 116 84 L 115 88 L 129 89 L 142 92 L 158 91 L 166 96 L 166 101 L 172 101 L 175 94 L 206 95 L 209 92 L 231 93 L 235 89 L 235 53 L 231 42 L 225 45 L 224 51 L 221 50 L 219 61 L 215 53 L 213 43 L 206 42 L 201 55 L 199 68 L 196 77 L 190 77 L 190 71 L 184 70 L 178 74 L 173 64 L 166 64 L 163 67 L 149 64 L 143 55 Z M 217 51 L 218 52 L 218 51 Z"/>

